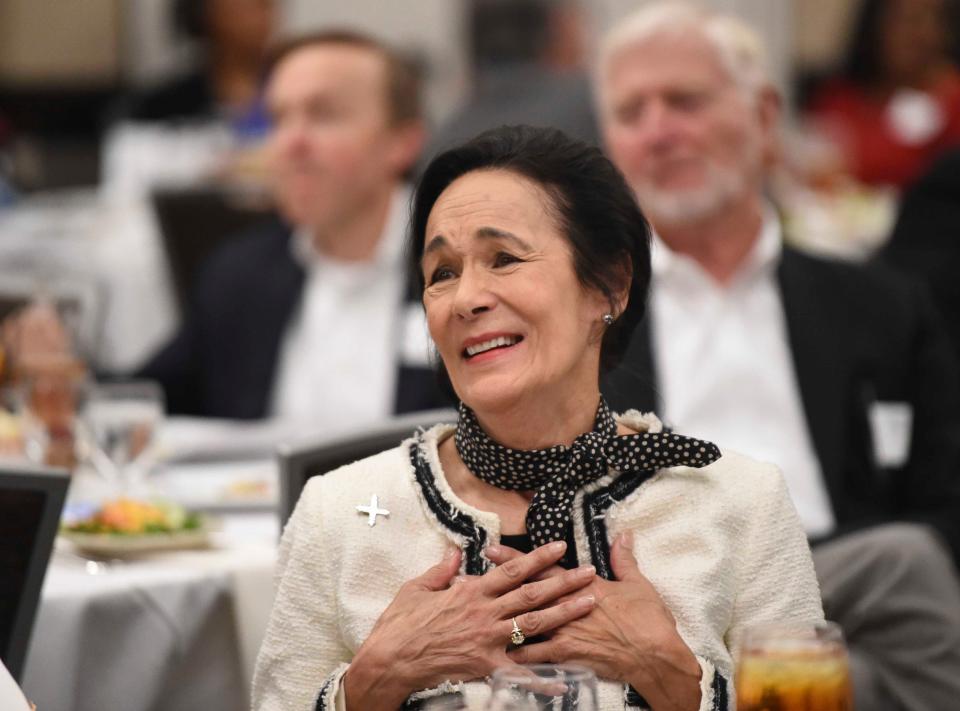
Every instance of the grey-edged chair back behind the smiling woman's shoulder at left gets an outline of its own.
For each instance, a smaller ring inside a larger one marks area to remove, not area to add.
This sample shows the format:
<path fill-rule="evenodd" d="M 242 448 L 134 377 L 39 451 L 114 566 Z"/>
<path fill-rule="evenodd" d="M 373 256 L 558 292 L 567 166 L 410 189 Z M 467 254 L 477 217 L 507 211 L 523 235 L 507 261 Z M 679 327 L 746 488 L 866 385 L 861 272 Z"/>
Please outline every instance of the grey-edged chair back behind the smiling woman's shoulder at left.
<path fill-rule="evenodd" d="M 457 411 L 451 408 L 424 410 L 391 417 L 361 429 L 281 444 L 278 448 L 281 527 L 293 513 L 300 492 L 310 477 L 396 447 L 421 427 L 456 420 Z"/>

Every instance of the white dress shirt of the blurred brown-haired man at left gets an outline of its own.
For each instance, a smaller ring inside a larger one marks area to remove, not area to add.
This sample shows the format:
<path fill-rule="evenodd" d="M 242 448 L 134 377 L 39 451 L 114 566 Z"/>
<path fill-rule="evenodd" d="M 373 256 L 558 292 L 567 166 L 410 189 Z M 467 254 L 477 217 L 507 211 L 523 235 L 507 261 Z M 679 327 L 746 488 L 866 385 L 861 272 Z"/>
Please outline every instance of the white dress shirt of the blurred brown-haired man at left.
<path fill-rule="evenodd" d="M 315 249 L 309 232 L 294 233 L 291 248 L 306 281 L 281 345 L 273 416 L 345 429 L 393 414 L 409 201 L 408 189 L 394 193 L 371 261 L 332 259 Z"/>

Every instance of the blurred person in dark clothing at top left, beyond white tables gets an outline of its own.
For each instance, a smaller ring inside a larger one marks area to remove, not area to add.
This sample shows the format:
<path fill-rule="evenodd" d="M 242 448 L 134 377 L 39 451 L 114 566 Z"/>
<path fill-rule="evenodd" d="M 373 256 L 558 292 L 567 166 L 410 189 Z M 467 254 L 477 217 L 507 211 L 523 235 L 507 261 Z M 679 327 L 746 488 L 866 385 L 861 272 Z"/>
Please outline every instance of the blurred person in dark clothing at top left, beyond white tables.
<path fill-rule="evenodd" d="M 240 135 L 266 133 L 263 70 L 277 23 L 276 0 L 175 0 L 176 29 L 200 45 L 201 65 L 131 97 L 134 122 L 226 120 Z"/>

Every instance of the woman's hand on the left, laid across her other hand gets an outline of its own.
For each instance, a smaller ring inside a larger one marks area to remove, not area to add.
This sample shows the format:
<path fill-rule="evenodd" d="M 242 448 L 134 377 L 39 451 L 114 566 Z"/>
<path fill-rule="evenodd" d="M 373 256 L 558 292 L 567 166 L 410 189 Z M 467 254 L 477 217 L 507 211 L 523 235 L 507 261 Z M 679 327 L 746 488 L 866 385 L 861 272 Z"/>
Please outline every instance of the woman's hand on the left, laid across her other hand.
<path fill-rule="evenodd" d="M 451 585 L 460 568 L 457 550 L 405 583 L 346 673 L 347 708 L 395 709 L 414 691 L 511 666 L 513 618 L 533 636 L 588 614 L 594 597 L 579 591 L 595 581 L 592 566 L 528 582 L 565 550 L 565 543 L 551 543 Z"/>

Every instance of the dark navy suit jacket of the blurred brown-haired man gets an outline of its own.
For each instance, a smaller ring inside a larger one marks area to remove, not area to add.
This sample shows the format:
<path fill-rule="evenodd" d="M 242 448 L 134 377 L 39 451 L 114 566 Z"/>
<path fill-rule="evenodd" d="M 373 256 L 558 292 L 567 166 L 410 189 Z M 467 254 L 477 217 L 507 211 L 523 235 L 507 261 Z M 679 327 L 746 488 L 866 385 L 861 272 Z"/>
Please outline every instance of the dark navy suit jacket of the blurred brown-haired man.
<path fill-rule="evenodd" d="M 268 414 L 283 336 L 305 283 L 290 236 L 279 221 L 266 222 L 204 265 L 180 331 L 138 374 L 163 385 L 169 412 L 234 419 Z M 395 412 L 450 404 L 432 370 L 397 367 Z"/>

